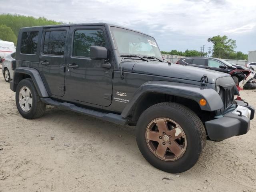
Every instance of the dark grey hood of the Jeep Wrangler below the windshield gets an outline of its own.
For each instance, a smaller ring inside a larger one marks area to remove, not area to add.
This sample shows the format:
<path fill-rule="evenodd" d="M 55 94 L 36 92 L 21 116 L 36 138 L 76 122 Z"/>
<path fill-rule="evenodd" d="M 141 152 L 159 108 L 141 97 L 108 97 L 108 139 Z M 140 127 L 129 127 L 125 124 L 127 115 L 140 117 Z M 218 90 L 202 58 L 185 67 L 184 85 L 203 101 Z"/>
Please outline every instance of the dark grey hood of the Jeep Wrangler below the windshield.
<path fill-rule="evenodd" d="M 126 62 L 122 63 L 122 67 L 124 69 L 127 66 L 125 64 Z M 127 62 L 130 66 L 130 69 L 133 73 L 140 73 L 140 74 L 150 74 L 150 75 L 156 75 L 156 76 L 165 76 L 165 77 L 171 77 L 171 78 L 180 78 L 180 79 L 186 79 L 186 80 L 193 80 L 193 81 L 199 81 L 201 80 L 202 76 L 204 74 L 208 77 L 208 83 L 215 84 L 215 81 L 217 78 L 224 77 L 224 76 L 230 76 L 229 74 L 198 68 L 198 67 L 192 67 L 192 66 L 186 66 L 186 65 L 178 65 L 178 64 L 168 64 L 168 63 L 161 63 L 161 62 L 144 62 L 139 61 L 132 64 L 131 62 Z M 127 69 L 127 68 L 126 68 Z"/>

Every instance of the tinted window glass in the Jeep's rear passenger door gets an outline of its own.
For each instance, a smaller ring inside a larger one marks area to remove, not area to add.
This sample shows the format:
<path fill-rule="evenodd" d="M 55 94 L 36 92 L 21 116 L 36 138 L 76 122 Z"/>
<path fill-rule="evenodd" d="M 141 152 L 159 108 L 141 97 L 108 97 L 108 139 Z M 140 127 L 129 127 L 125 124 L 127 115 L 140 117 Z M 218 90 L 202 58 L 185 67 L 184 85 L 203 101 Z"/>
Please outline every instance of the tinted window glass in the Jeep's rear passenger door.
<path fill-rule="evenodd" d="M 64 55 L 66 31 L 47 31 L 44 36 L 44 54 Z"/>

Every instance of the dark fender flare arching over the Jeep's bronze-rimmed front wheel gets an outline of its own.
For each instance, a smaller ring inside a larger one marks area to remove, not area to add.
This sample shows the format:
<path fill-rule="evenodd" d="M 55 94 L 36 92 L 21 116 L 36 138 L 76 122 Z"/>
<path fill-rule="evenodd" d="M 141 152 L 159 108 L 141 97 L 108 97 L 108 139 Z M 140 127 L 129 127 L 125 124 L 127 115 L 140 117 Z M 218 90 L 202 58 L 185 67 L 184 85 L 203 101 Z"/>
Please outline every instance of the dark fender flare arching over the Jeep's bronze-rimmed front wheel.
<path fill-rule="evenodd" d="M 121 116 L 126 118 L 131 113 L 138 101 L 144 94 L 148 93 L 160 93 L 168 94 L 172 96 L 179 96 L 196 101 L 199 104 L 201 99 L 205 99 L 207 104 L 200 106 L 204 111 L 216 111 L 224 108 L 222 99 L 219 94 L 212 88 L 204 86 L 197 86 L 192 84 L 178 83 L 178 82 L 166 82 L 166 81 L 149 81 L 142 84 L 135 92 L 132 100 L 124 108 Z"/>

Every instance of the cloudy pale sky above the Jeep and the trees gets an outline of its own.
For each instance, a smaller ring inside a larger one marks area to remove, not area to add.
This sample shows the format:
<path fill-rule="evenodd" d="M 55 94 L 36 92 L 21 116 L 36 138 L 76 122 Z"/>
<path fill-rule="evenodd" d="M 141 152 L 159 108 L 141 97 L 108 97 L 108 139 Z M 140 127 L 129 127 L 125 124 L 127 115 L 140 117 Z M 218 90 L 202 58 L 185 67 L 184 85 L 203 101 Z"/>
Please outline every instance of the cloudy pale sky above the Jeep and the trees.
<path fill-rule="evenodd" d="M 212 36 L 256 50 L 256 0 L 0 0 L 0 14 L 72 22 L 108 22 L 153 36 L 162 51 L 200 50 Z"/>

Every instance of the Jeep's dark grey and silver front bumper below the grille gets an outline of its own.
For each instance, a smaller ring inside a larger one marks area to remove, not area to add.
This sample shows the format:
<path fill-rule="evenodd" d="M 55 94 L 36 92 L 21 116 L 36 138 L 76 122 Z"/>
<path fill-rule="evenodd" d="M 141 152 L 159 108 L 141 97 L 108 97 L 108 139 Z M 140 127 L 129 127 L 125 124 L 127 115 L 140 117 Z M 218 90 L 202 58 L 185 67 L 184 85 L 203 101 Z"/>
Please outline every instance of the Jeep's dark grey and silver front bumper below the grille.
<path fill-rule="evenodd" d="M 232 136 L 246 134 L 250 128 L 250 119 L 254 118 L 254 107 L 243 101 L 235 100 L 236 105 L 250 109 L 250 118 L 236 113 L 225 114 L 221 118 L 206 121 L 205 126 L 210 140 L 221 141 Z M 247 106 L 248 105 L 248 106 Z"/>

